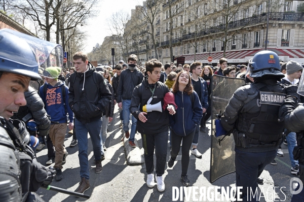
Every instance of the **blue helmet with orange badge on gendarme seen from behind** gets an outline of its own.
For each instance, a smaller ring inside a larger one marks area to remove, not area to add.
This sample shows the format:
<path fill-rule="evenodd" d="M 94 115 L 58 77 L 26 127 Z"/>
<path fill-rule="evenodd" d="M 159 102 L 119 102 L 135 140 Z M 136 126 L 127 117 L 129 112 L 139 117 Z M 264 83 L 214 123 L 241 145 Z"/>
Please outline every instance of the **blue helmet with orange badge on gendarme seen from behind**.
<path fill-rule="evenodd" d="M 277 53 L 273 51 L 260 51 L 256 53 L 249 61 L 250 77 L 262 77 L 264 75 L 273 75 L 284 78 L 281 73 L 280 59 Z"/>

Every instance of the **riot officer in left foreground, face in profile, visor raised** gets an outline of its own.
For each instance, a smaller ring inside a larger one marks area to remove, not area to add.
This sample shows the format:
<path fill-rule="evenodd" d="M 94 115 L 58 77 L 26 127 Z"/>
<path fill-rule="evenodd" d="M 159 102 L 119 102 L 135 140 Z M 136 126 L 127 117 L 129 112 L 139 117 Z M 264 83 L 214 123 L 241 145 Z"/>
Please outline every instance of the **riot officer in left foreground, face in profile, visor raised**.
<path fill-rule="evenodd" d="M 10 117 L 26 105 L 24 92 L 29 81 L 41 80 L 36 54 L 44 55 L 46 63 L 51 64 L 49 51 L 54 50 L 51 55 L 60 62 L 62 49 L 10 29 L 0 30 L 0 47 L 0 200 L 43 201 L 33 192 L 49 184 L 55 172 L 37 162 L 27 145 L 29 134 L 24 122 Z"/>

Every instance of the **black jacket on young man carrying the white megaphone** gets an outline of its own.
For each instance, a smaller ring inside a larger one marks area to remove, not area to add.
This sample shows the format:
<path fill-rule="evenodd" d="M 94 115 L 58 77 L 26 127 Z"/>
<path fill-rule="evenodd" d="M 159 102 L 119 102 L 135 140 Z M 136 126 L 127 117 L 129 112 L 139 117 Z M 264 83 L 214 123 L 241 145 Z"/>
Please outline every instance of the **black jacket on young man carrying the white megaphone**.
<path fill-rule="evenodd" d="M 164 97 L 169 88 L 162 82 L 156 82 L 154 91 L 154 98 L 151 101 L 151 105 L 161 102 L 161 106 L 164 105 Z M 141 84 L 134 88 L 130 112 L 137 119 L 137 130 L 142 134 L 155 134 L 163 131 L 167 131 L 169 127 L 169 112 L 167 109 L 162 110 L 163 112 L 152 111 L 148 112 L 145 117 L 147 121 L 145 123 L 138 120 L 138 114 L 142 112 L 142 106 L 146 105 L 148 99 L 152 93 L 149 89 L 147 77 L 142 81 Z M 140 105 L 140 106 L 139 106 Z M 139 106 L 139 109 L 138 109 Z"/>

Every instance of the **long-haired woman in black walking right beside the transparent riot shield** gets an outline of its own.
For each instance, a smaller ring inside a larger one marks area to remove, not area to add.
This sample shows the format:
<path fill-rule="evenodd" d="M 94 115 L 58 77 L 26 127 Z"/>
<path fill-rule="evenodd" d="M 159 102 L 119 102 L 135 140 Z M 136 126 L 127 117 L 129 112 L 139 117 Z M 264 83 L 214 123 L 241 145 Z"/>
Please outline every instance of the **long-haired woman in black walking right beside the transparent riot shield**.
<path fill-rule="evenodd" d="M 211 116 L 211 99 L 210 99 L 210 95 L 211 95 L 211 77 L 213 75 L 213 70 L 209 65 L 204 66 L 203 68 L 203 72 L 201 74 L 201 77 L 206 81 L 207 83 L 207 90 L 208 90 L 208 103 L 209 103 L 209 107 L 206 110 L 206 112 L 203 114 L 203 118 L 201 120 L 201 131 L 202 132 L 206 132 L 206 122 L 207 120 L 210 118 Z"/>

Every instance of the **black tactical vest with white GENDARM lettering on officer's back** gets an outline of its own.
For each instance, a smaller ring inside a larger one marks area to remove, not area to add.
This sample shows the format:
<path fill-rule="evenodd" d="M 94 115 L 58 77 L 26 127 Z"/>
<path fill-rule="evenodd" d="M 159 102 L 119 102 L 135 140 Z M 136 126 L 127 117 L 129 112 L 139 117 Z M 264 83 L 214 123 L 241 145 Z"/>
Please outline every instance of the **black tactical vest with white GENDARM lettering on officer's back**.
<path fill-rule="evenodd" d="M 284 130 L 284 124 L 278 119 L 280 106 L 286 98 L 286 90 L 279 84 L 253 83 L 251 86 L 257 89 L 258 94 L 252 99 L 253 106 L 247 107 L 257 108 L 259 111 L 248 113 L 244 110 L 245 112 L 240 113 L 237 128 L 243 136 L 245 135 L 246 144 L 236 146 L 243 148 L 277 146 L 281 142 Z"/>

